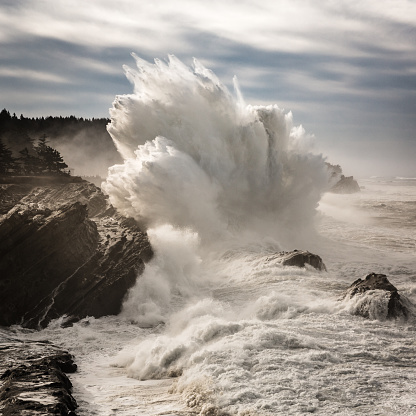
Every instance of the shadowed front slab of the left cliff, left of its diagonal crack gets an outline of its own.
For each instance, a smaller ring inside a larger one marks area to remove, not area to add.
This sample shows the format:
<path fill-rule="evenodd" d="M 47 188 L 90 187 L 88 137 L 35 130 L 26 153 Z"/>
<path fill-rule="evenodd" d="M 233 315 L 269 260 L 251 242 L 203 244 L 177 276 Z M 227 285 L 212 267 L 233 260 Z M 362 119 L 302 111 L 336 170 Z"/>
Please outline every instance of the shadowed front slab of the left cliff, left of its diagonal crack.
<path fill-rule="evenodd" d="M 56 211 L 18 205 L 0 221 L 0 325 L 26 323 L 96 252 L 99 234 L 79 202 Z M 37 312 L 39 311 L 39 312 Z"/>

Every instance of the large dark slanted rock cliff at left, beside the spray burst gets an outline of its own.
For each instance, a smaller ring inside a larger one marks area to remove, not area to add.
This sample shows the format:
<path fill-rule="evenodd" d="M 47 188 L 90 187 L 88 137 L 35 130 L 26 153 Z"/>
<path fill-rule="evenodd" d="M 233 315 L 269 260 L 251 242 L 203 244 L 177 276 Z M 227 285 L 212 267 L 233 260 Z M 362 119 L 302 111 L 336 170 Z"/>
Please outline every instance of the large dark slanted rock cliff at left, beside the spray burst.
<path fill-rule="evenodd" d="M 22 186 L 0 217 L 0 325 L 119 313 L 152 256 L 147 235 L 86 181 Z"/>

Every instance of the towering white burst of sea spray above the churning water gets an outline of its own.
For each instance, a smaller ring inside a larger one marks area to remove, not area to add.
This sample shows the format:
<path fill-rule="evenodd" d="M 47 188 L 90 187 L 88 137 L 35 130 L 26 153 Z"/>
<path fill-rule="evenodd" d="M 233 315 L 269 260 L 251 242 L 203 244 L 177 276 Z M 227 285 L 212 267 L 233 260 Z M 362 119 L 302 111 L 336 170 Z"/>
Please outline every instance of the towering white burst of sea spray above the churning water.
<path fill-rule="evenodd" d="M 196 60 L 136 61 L 134 94 L 116 98 L 108 127 L 125 160 L 104 185 L 119 210 L 203 243 L 244 232 L 284 242 L 310 227 L 327 173 L 290 112 L 244 106 Z"/>

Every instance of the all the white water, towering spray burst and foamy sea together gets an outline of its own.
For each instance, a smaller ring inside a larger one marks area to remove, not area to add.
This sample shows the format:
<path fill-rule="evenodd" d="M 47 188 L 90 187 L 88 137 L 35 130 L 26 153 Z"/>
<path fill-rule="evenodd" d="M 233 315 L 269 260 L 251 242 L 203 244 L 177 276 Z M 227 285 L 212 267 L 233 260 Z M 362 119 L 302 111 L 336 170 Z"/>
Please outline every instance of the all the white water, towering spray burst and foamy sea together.
<path fill-rule="evenodd" d="M 137 60 L 109 131 L 125 159 L 106 191 L 148 227 L 154 259 L 117 317 L 54 322 L 76 357 L 80 415 L 411 415 L 414 320 L 380 296 L 340 301 L 370 272 L 416 303 L 416 181 L 325 193 L 324 159 L 277 106 L 246 106 L 195 62 Z M 307 249 L 328 272 L 283 267 Z"/>

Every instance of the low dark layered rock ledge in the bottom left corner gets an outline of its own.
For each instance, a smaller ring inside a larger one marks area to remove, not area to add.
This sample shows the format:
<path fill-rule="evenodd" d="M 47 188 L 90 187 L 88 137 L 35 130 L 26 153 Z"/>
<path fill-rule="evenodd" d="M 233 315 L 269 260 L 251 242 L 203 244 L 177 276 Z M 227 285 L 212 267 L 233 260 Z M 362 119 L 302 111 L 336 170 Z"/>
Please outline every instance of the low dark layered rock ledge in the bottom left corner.
<path fill-rule="evenodd" d="M 0 343 L 0 414 L 75 416 L 77 403 L 65 373 L 77 366 L 49 342 Z"/>

